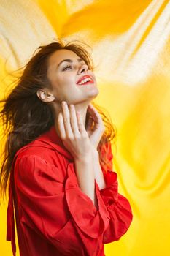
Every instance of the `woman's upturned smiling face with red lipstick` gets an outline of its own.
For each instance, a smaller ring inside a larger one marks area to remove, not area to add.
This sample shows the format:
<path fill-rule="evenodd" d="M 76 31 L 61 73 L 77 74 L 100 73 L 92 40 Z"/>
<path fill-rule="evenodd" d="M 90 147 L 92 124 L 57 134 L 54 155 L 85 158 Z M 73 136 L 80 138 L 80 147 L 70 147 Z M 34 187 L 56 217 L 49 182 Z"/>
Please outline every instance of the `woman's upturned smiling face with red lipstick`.
<path fill-rule="evenodd" d="M 57 102 L 80 104 L 98 95 L 95 75 L 72 50 L 57 50 L 50 56 L 47 78 Z"/>

